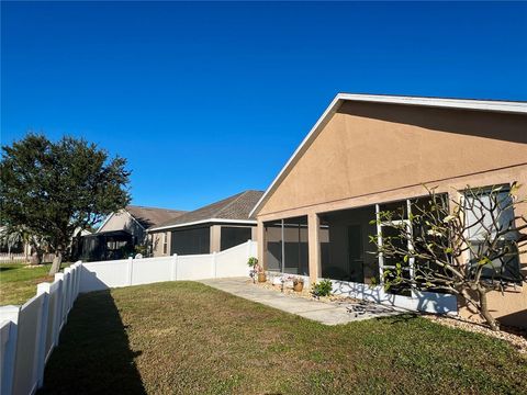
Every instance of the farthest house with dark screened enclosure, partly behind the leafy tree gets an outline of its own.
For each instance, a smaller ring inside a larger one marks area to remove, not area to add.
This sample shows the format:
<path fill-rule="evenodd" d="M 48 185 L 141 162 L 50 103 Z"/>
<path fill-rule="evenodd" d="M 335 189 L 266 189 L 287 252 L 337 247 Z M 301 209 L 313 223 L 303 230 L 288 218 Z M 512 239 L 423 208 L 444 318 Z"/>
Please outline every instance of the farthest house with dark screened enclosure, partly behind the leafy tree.
<path fill-rule="evenodd" d="M 110 214 L 99 229 L 82 237 L 80 259 L 86 261 L 121 259 L 146 244 L 146 229 L 184 212 L 179 210 L 128 205 Z"/>

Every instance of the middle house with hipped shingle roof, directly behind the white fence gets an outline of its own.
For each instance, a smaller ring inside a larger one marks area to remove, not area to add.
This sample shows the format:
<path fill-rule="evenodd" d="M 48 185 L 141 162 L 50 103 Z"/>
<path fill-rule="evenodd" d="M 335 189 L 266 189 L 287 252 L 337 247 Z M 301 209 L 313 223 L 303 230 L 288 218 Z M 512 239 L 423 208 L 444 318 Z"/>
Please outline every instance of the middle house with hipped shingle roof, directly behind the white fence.
<path fill-rule="evenodd" d="M 211 253 L 255 239 L 256 219 L 249 212 L 262 194 L 245 191 L 149 228 L 152 253 Z"/>

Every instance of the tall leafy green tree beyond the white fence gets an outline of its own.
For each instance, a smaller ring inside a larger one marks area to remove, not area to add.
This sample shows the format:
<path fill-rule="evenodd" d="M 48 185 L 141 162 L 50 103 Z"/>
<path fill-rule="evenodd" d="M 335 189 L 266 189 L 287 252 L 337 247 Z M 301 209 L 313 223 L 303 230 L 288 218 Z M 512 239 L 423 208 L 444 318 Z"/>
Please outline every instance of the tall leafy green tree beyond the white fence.
<path fill-rule="evenodd" d="M 82 138 L 51 142 L 27 134 L 2 146 L 0 223 L 48 240 L 60 268 L 75 233 L 99 223 L 130 202 L 126 160 Z"/>

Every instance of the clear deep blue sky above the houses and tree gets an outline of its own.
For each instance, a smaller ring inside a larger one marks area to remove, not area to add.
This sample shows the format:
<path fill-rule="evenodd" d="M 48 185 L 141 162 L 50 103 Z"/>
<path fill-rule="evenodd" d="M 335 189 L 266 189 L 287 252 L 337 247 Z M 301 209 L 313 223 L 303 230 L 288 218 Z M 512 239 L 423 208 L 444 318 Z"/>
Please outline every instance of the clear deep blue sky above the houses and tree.
<path fill-rule="evenodd" d="M 527 3 L 2 2 L 1 140 L 82 136 L 133 203 L 266 189 L 337 92 L 527 100 Z"/>

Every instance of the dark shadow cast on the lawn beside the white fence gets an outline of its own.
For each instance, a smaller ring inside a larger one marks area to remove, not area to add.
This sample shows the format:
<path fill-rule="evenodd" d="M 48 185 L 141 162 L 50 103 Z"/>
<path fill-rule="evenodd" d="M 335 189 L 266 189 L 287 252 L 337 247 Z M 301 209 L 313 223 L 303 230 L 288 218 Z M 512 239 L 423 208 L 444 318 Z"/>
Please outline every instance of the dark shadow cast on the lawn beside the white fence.
<path fill-rule="evenodd" d="M 110 291 L 80 295 L 38 394 L 146 394 Z"/>

